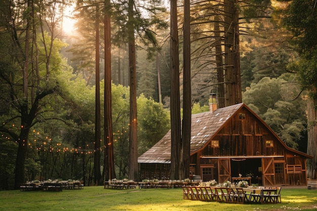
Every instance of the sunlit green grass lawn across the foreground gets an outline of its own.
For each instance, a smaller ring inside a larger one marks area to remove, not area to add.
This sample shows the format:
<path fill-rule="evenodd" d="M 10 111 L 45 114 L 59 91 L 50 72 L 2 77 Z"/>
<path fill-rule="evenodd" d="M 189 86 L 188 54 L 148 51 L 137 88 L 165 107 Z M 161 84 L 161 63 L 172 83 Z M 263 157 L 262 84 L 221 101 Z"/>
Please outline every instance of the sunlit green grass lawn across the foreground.
<path fill-rule="evenodd" d="M 0 210 L 316 210 L 317 190 L 283 189 L 282 203 L 228 204 L 183 199 L 183 190 L 129 189 L 111 190 L 103 186 L 80 190 L 0 191 Z"/>

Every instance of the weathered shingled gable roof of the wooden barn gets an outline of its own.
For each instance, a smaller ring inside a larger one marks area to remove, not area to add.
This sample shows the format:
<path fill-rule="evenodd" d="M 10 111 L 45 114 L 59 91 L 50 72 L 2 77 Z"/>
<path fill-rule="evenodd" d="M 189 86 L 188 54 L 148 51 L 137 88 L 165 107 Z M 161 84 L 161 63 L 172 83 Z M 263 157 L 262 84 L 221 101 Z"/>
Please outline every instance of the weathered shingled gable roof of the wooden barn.
<path fill-rule="evenodd" d="M 197 150 L 203 148 L 208 141 L 214 137 L 222 126 L 231 119 L 236 112 L 242 107 L 248 109 L 256 118 L 258 118 L 264 125 L 267 124 L 257 116 L 244 103 L 219 108 L 215 111 L 208 111 L 191 115 L 191 138 L 190 138 L 190 154 L 194 154 Z M 268 130 L 275 135 L 281 143 L 291 151 L 301 155 L 310 157 L 309 155 L 291 149 L 267 126 Z M 159 142 L 144 154 L 138 157 L 139 163 L 170 163 L 171 162 L 171 131 L 169 131 Z"/>

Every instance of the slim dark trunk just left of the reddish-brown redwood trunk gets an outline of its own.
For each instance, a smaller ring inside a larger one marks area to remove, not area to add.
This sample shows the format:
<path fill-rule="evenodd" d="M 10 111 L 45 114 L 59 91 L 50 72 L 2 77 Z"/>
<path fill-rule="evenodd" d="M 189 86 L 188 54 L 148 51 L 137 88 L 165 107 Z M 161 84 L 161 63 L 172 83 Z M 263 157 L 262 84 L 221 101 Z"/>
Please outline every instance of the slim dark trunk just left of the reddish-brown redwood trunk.
<path fill-rule="evenodd" d="M 95 184 L 100 185 L 100 63 L 99 63 L 99 6 L 96 6 L 96 94 L 95 94 Z"/>

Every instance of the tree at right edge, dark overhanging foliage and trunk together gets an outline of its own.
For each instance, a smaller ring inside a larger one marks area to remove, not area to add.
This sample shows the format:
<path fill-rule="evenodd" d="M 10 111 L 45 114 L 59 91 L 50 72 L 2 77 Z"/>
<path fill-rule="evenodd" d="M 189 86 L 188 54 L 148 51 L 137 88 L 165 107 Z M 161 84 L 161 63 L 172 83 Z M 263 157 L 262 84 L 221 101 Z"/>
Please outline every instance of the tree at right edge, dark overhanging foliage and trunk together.
<path fill-rule="evenodd" d="M 307 161 L 307 175 L 317 169 L 317 13 L 316 2 L 313 0 L 293 0 L 285 10 L 280 11 L 283 25 L 291 31 L 293 39 L 290 41 L 299 54 L 298 60 L 289 65 L 289 70 L 299 75 L 303 90 L 308 91 L 307 102 L 307 153 L 313 159 Z"/>

